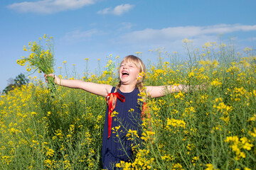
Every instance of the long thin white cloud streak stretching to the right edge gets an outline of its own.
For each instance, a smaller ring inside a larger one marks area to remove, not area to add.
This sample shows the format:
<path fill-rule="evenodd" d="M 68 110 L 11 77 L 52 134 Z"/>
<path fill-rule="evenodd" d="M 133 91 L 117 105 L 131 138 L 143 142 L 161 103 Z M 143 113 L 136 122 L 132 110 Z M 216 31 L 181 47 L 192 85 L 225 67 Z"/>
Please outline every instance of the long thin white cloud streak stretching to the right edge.
<path fill-rule="evenodd" d="M 172 41 L 182 40 L 184 38 L 200 38 L 209 35 L 218 35 L 225 33 L 233 33 L 237 31 L 256 30 L 255 26 L 242 26 L 239 24 L 227 25 L 220 24 L 215 26 L 184 26 L 169 27 L 161 30 L 146 28 L 145 30 L 137 30 L 122 36 L 124 42 L 155 42 L 155 41 Z"/>

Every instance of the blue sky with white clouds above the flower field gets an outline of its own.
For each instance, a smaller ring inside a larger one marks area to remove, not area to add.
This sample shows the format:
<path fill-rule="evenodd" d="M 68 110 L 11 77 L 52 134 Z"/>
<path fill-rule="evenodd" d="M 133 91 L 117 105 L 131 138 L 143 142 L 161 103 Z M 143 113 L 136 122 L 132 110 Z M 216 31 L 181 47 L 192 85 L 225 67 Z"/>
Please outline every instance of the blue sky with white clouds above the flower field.
<path fill-rule="evenodd" d="M 104 67 L 108 55 L 142 52 L 145 62 L 159 47 L 182 51 L 184 38 L 201 47 L 221 35 L 240 49 L 255 48 L 255 7 L 255 0 L 1 0 L 0 91 L 8 79 L 26 73 L 16 64 L 29 55 L 23 45 L 44 34 L 54 38 L 56 68 L 67 61 L 82 74 L 85 58 L 91 72 L 98 59 Z"/>

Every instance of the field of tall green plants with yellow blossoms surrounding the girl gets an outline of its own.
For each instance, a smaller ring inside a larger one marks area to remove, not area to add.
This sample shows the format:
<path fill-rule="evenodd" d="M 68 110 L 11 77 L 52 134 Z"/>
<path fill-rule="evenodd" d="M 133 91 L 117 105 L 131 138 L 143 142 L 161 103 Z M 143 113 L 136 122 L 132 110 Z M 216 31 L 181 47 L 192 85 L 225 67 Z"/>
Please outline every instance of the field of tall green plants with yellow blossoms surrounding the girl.
<path fill-rule="evenodd" d="M 143 147 L 123 169 L 256 169 L 256 57 L 207 42 L 202 50 L 184 40 L 188 60 L 157 55 L 145 86 L 197 85 L 206 90 L 148 98 Z M 113 64 L 85 81 L 116 86 Z M 172 62 L 164 62 L 171 60 Z M 100 169 L 105 98 L 58 87 L 52 98 L 43 81 L 14 89 L 0 101 L 0 169 Z M 168 91 L 166 91 L 168 93 Z M 115 128 L 117 134 L 118 130 Z M 131 131 L 131 140 L 137 132 Z"/>

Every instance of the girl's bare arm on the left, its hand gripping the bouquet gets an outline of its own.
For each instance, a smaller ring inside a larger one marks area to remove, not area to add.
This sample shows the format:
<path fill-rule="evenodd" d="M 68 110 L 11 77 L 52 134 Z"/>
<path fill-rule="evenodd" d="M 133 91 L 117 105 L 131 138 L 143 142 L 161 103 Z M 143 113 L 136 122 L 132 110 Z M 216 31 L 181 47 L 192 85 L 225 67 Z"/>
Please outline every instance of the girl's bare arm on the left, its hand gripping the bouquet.
<path fill-rule="evenodd" d="M 60 86 L 66 86 L 73 89 L 82 89 L 92 94 L 97 94 L 103 97 L 106 97 L 112 89 L 112 86 L 108 84 L 96 84 L 82 80 L 60 79 L 59 77 L 55 76 L 55 74 L 45 74 L 46 81 L 47 77 L 53 77 L 55 84 L 58 84 Z"/>

